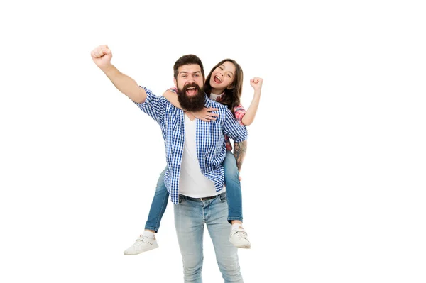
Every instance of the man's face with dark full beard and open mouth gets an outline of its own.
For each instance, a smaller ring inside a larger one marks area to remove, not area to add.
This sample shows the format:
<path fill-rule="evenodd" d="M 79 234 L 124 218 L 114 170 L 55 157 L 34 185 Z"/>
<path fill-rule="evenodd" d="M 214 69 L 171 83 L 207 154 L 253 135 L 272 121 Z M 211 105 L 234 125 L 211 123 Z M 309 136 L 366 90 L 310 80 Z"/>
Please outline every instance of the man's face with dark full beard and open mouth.
<path fill-rule="evenodd" d="M 178 101 L 185 111 L 200 111 L 204 107 L 204 78 L 199 65 L 183 65 L 178 68 Z"/>

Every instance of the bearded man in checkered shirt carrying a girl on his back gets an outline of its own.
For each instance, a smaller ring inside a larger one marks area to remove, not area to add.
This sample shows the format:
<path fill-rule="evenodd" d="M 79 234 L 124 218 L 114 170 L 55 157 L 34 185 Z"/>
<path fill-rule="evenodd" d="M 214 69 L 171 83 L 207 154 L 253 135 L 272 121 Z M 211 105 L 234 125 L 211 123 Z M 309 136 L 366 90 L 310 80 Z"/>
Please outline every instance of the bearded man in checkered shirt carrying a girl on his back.
<path fill-rule="evenodd" d="M 229 109 L 202 91 L 204 69 L 195 55 L 180 57 L 173 67 L 178 88 L 178 109 L 111 65 L 111 50 L 92 50 L 94 63 L 114 86 L 160 125 L 165 141 L 165 186 L 174 204 L 175 228 L 182 254 L 184 282 L 202 282 L 203 233 L 207 225 L 224 282 L 243 282 L 237 248 L 229 242 L 228 204 L 222 162 L 226 155 L 224 133 L 236 143 L 247 138 Z M 189 111 L 216 108 L 217 120 L 204 122 Z M 197 197 L 190 197 L 196 195 Z"/>

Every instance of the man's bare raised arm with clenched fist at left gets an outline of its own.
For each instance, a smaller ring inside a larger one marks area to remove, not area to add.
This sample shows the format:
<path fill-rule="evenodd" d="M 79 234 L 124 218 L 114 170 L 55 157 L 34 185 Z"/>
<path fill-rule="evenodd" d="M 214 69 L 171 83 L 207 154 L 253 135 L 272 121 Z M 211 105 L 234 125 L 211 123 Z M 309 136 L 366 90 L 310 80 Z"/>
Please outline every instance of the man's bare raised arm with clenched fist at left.
<path fill-rule="evenodd" d="M 136 103 L 146 99 L 145 89 L 139 87 L 134 79 L 120 72 L 111 64 L 112 52 L 107 45 L 100 45 L 91 52 L 93 62 L 107 75 L 114 86 Z"/>

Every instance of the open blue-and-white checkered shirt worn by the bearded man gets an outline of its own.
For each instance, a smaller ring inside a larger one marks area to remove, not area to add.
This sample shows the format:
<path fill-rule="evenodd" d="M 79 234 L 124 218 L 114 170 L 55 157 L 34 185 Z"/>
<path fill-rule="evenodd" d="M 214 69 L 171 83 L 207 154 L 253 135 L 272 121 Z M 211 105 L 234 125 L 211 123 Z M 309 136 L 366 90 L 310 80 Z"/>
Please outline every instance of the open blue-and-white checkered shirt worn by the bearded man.
<path fill-rule="evenodd" d="M 155 96 L 149 89 L 145 87 L 143 89 L 148 95 L 145 102 L 135 102 L 135 104 L 160 124 L 168 165 L 168 170 L 164 174 L 165 187 L 168 189 L 171 201 L 178 204 L 185 113 L 170 104 L 164 96 Z M 210 122 L 197 119 L 197 157 L 202 174 L 211 179 L 216 191 L 220 192 L 225 182 L 224 167 L 222 167 L 226 155 L 224 134 L 232 138 L 234 142 L 240 143 L 247 139 L 248 133 L 246 126 L 237 123 L 231 111 L 223 104 L 212 101 L 206 96 L 204 106 L 219 109 L 214 111 L 219 114 L 219 117 Z"/>

